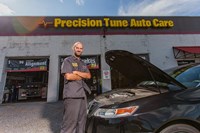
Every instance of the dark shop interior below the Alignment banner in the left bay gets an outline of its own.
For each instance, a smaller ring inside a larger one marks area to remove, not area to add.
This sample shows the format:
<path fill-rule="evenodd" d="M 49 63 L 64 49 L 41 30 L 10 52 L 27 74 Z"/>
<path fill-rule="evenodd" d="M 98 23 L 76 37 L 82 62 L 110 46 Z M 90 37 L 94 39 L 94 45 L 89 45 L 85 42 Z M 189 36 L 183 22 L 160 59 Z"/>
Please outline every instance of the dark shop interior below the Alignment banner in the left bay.
<path fill-rule="evenodd" d="M 46 101 L 48 72 L 8 72 L 3 103 Z"/>

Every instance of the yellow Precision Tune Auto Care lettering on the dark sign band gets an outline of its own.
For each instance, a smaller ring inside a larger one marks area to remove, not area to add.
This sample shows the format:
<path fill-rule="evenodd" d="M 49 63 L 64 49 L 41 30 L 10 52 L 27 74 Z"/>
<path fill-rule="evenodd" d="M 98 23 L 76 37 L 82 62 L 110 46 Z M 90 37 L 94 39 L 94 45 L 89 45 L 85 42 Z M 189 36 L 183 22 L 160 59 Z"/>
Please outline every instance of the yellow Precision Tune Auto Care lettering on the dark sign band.
<path fill-rule="evenodd" d="M 103 18 L 103 19 L 61 19 L 55 18 L 53 25 L 55 28 L 57 27 L 173 27 L 174 22 L 172 20 L 163 20 L 163 19 L 111 19 L 111 18 Z"/>

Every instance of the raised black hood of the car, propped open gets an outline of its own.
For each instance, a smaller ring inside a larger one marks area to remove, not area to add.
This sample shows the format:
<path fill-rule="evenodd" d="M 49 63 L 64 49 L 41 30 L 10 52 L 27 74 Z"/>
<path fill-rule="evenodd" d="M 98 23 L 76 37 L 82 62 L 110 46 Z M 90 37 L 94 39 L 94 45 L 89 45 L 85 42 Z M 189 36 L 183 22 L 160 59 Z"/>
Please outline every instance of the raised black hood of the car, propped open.
<path fill-rule="evenodd" d="M 108 65 L 130 79 L 134 84 L 143 81 L 158 81 L 161 83 L 171 83 L 186 89 L 180 82 L 131 52 L 111 50 L 105 53 L 105 59 Z"/>

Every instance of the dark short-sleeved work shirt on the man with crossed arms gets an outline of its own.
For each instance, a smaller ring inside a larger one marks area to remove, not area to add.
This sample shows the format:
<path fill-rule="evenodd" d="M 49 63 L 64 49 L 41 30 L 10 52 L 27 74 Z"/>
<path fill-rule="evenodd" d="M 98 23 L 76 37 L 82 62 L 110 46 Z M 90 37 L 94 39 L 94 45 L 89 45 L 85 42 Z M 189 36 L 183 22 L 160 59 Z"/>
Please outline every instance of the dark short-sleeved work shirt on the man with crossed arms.
<path fill-rule="evenodd" d="M 64 59 L 61 66 L 61 74 L 73 73 L 73 71 L 87 72 L 89 70 L 87 65 L 82 61 L 77 59 L 74 56 L 69 56 Z M 63 98 L 68 97 L 85 97 L 85 90 L 88 93 L 91 93 L 89 87 L 85 83 L 84 79 L 82 80 L 67 80 L 64 78 L 64 89 L 63 89 Z"/>

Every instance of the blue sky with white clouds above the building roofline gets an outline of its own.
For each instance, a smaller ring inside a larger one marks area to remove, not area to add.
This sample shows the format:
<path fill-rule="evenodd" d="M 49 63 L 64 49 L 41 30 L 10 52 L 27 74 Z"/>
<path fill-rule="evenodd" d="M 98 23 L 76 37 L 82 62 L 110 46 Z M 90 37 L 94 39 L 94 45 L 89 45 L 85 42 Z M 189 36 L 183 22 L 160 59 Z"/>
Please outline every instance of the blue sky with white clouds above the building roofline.
<path fill-rule="evenodd" d="M 0 0 L 0 16 L 200 16 L 200 0 Z"/>

